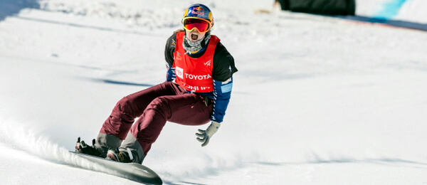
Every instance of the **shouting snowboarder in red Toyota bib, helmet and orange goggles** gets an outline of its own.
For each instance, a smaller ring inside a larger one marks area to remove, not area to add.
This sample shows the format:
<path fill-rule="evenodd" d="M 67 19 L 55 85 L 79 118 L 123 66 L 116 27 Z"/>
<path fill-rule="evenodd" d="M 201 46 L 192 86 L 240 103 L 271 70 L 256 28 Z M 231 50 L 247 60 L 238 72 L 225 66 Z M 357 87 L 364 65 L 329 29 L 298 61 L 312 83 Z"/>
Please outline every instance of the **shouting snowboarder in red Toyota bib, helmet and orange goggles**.
<path fill-rule="evenodd" d="M 76 152 L 141 164 L 168 121 L 211 122 L 196 133 L 202 147 L 209 143 L 223 122 L 237 69 L 220 39 L 211 35 L 214 16 L 207 6 L 189 6 L 181 23 L 184 29 L 175 31 L 166 43 L 166 82 L 123 97 L 93 145 L 79 138 Z"/>

